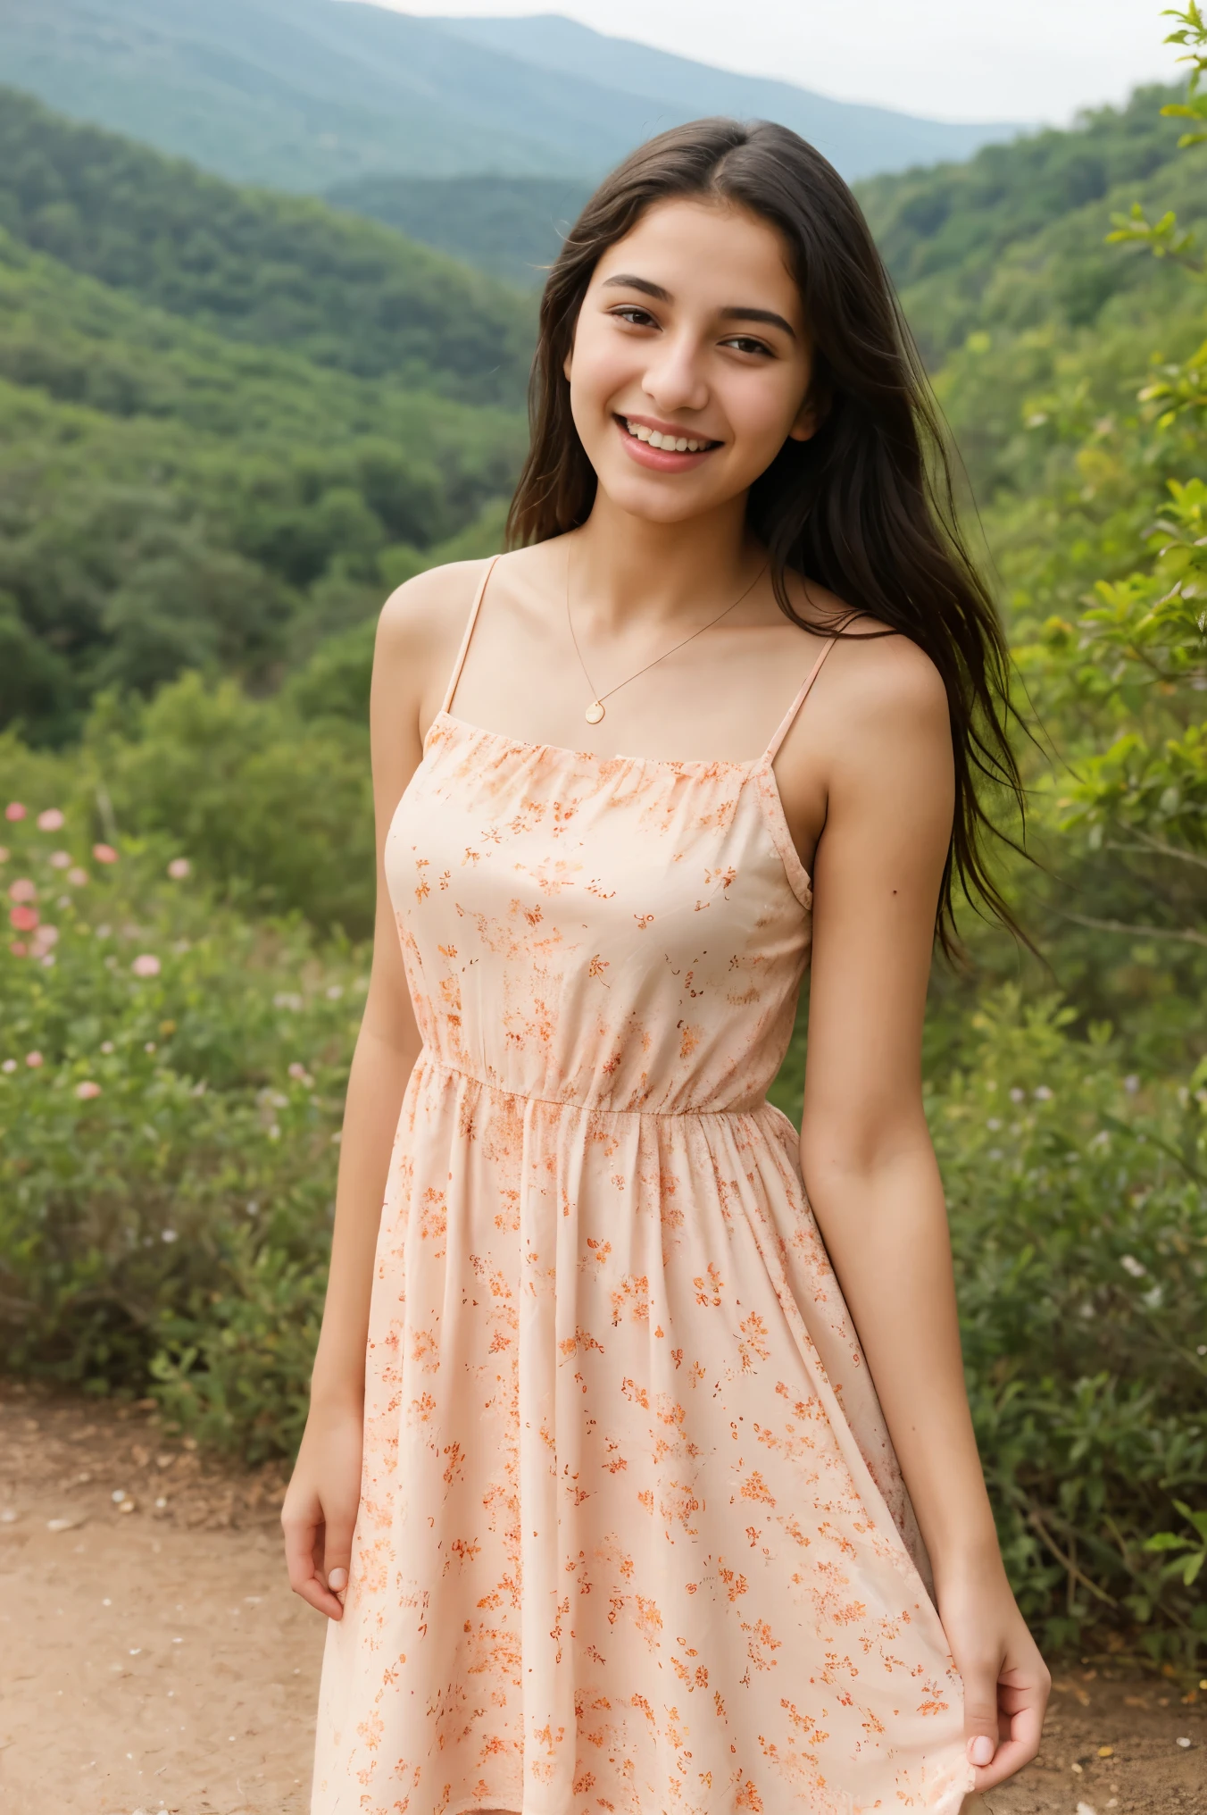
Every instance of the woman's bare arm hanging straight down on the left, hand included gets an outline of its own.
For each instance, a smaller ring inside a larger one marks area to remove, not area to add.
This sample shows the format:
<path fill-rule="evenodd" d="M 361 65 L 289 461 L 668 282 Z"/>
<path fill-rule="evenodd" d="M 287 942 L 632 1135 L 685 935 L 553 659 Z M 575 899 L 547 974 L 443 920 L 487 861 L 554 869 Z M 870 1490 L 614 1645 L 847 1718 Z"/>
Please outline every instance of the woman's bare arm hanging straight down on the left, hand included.
<path fill-rule="evenodd" d="M 452 670 L 472 579 L 474 570 L 461 564 L 401 586 L 385 604 L 374 650 L 374 958 L 348 1074 L 310 1412 L 281 1508 L 290 1586 L 330 1619 L 343 1614 L 359 1506 L 365 1349 L 381 1203 L 407 1082 L 421 1045 L 385 884 L 385 839 L 403 790 L 423 760 L 423 730 L 437 711 Z"/>

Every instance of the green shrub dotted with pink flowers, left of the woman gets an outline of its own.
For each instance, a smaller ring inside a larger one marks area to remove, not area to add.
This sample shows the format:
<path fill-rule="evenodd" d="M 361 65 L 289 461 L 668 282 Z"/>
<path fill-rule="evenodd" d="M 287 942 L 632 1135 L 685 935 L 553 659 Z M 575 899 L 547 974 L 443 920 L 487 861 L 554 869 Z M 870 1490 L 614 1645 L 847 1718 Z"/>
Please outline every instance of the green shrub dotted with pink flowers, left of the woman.
<path fill-rule="evenodd" d="M 169 846 L 114 858 L 53 820 L 9 820 L 0 862 L 9 1367 L 94 1392 L 154 1378 L 211 1441 L 289 1448 L 359 957 L 238 917 Z"/>

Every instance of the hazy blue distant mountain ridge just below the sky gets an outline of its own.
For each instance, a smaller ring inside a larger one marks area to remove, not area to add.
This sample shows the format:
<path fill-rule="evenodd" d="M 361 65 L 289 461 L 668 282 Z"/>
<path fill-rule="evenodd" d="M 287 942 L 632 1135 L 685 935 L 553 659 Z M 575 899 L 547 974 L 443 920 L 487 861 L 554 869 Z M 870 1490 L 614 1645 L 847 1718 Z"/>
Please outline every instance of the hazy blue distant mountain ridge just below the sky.
<path fill-rule="evenodd" d="M 234 182 L 594 180 L 706 113 L 780 118 L 848 178 L 964 158 L 1011 125 L 826 100 L 557 15 L 434 20 L 361 0 L 5 0 L 0 80 Z"/>

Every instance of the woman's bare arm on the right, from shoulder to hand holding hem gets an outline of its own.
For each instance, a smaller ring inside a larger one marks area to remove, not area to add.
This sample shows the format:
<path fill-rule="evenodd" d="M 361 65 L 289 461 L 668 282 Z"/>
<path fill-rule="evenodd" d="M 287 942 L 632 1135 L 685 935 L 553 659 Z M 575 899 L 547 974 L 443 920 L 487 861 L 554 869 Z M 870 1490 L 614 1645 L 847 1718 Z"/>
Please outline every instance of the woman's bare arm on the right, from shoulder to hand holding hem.
<path fill-rule="evenodd" d="M 987 1790 L 1035 1755 L 1047 1677 L 998 1554 L 922 1113 L 922 1018 L 953 813 L 947 702 L 904 639 L 837 650 L 831 662 L 835 686 L 811 731 L 828 751 L 828 806 L 813 862 L 800 1160 L 931 1555 L 964 1677 L 969 1759 Z"/>

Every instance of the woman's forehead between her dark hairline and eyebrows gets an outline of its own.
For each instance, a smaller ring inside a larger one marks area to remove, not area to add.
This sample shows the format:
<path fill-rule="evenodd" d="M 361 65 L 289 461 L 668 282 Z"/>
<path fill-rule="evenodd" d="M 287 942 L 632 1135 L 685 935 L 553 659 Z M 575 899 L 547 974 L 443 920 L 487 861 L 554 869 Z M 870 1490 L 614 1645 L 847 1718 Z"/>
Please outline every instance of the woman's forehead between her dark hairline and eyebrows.
<path fill-rule="evenodd" d="M 730 201 L 675 196 L 655 201 L 610 245 L 592 289 L 621 272 L 657 283 L 677 303 L 728 309 L 751 303 L 802 325 L 800 294 L 788 269 L 788 243 L 759 214 Z"/>

